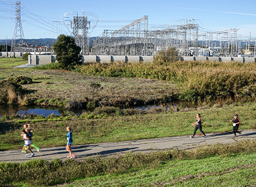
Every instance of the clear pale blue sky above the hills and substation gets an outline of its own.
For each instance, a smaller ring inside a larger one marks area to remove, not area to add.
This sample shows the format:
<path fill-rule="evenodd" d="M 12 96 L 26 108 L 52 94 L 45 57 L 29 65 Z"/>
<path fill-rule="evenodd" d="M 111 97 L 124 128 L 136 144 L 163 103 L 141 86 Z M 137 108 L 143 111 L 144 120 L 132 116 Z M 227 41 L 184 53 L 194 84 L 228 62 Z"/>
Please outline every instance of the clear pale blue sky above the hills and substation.
<path fill-rule="evenodd" d="M 15 30 L 16 1 L 0 0 L 0 39 L 12 39 Z M 89 35 L 97 37 L 104 30 L 119 30 L 134 20 L 148 16 L 149 30 L 194 20 L 200 32 L 238 28 L 241 39 L 256 40 L 256 1 L 170 1 L 170 0 L 21 0 L 21 20 L 25 39 L 57 38 L 72 35 L 70 19 L 88 17 Z"/>

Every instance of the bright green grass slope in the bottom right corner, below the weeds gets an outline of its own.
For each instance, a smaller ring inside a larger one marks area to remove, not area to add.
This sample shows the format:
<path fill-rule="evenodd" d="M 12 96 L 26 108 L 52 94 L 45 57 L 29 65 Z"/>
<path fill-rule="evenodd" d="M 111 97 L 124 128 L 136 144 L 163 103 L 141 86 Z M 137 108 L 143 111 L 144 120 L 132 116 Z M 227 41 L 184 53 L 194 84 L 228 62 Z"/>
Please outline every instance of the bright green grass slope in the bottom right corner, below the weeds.
<path fill-rule="evenodd" d="M 63 186 L 255 186 L 255 156 L 167 161 L 157 168 L 77 179 Z"/>

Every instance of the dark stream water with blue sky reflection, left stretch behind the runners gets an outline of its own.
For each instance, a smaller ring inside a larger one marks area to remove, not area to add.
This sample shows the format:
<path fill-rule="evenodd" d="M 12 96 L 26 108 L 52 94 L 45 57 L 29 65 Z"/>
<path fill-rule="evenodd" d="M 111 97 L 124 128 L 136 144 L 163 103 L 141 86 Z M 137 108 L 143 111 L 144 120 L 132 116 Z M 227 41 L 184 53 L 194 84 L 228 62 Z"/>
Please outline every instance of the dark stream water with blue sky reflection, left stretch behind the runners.
<path fill-rule="evenodd" d="M 76 115 L 83 113 L 83 110 L 73 109 L 67 110 L 63 107 L 55 106 L 19 106 L 19 105 L 0 105 L 0 117 L 7 115 L 11 116 L 13 114 L 24 116 L 29 114 L 37 114 L 47 117 L 51 114 L 61 116 L 62 114 L 67 114 L 73 112 Z"/>

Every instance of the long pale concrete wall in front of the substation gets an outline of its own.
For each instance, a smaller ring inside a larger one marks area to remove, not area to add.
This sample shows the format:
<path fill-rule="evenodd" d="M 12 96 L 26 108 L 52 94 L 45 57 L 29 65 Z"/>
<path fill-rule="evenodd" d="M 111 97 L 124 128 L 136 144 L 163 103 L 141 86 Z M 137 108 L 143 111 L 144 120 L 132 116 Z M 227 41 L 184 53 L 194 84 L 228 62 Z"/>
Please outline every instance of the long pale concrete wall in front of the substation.
<path fill-rule="evenodd" d="M 6 52 L 1 52 L 1 54 L 5 55 Z M 8 54 L 9 55 L 9 54 Z M 153 62 L 154 56 L 110 56 L 110 55 L 84 55 L 82 56 L 82 62 L 101 62 L 101 63 L 109 63 L 113 61 L 123 61 L 123 62 Z M 243 62 L 243 63 L 251 63 L 255 62 L 254 57 L 216 57 L 216 56 L 182 56 L 180 60 L 184 61 L 219 61 L 219 62 L 226 62 L 226 61 L 236 61 L 236 62 Z M 48 64 L 57 62 L 55 59 L 55 55 L 29 55 L 29 64 Z"/>

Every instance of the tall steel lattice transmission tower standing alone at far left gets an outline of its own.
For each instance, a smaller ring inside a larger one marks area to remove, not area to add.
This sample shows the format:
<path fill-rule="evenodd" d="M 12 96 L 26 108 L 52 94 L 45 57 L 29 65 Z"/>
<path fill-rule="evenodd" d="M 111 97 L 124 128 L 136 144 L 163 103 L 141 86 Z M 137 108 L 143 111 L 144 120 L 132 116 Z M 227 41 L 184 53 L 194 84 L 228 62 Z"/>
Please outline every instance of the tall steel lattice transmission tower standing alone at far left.
<path fill-rule="evenodd" d="M 23 51 L 24 48 L 24 34 L 22 29 L 22 19 L 21 19 L 21 12 L 20 12 L 20 1 L 16 1 L 15 3 L 15 12 L 16 12 L 16 23 L 15 23 L 15 30 L 13 32 L 12 38 L 12 48 L 10 51 Z M 16 40 L 19 39 L 19 42 L 16 46 Z"/>

